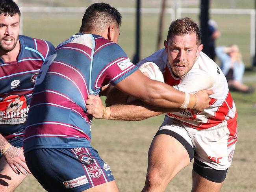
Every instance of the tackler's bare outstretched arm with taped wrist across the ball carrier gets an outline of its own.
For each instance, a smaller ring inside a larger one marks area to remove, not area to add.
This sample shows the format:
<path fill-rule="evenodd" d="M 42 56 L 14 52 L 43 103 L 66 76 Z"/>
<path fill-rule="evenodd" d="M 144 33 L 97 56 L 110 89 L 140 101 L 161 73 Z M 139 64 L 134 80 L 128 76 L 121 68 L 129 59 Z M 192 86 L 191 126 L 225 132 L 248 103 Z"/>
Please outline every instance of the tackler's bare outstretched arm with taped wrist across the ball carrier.
<path fill-rule="evenodd" d="M 211 90 L 203 90 L 198 96 L 185 95 L 185 92 L 176 90 L 166 83 L 147 78 L 139 70 L 120 81 L 115 87 L 150 105 L 165 108 L 189 108 L 198 111 L 209 107 L 208 94 L 213 93 Z"/>

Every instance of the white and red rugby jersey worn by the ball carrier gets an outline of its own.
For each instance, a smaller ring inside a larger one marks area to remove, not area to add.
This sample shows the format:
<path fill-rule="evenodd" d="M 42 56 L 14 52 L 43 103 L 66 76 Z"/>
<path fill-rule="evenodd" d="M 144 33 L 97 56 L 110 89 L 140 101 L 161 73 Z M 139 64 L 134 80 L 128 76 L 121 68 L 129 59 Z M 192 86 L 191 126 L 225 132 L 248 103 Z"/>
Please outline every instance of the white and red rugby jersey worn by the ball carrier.
<path fill-rule="evenodd" d="M 236 118 L 236 106 L 228 90 L 226 78 L 219 66 L 203 52 L 200 53 L 191 70 L 181 78 L 173 75 L 164 48 L 141 60 L 137 66 L 145 62 L 156 63 L 163 72 L 165 83 L 175 89 L 189 93 L 196 93 L 202 89 L 214 91 L 210 96 L 210 107 L 204 111 L 184 109 L 176 113 L 167 113 L 167 116 L 179 119 L 187 126 L 199 130 L 217 126 L 222 122 L 228 123 L 229 120 Z"/>

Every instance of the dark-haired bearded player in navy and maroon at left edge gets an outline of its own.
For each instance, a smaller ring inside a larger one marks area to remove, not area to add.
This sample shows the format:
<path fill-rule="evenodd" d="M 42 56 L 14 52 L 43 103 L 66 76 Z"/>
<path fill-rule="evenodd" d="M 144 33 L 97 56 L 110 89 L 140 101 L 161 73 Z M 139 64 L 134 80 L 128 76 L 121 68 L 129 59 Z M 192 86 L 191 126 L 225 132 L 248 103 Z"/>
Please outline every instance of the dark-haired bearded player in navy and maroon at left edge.
<path fill-rule="evenodd" d="M 30 173 L 22 150 L 33 86 L 50 42 L 19 35 L 19 7 L 0 1 L 0 191 L 13 191 Z"/>

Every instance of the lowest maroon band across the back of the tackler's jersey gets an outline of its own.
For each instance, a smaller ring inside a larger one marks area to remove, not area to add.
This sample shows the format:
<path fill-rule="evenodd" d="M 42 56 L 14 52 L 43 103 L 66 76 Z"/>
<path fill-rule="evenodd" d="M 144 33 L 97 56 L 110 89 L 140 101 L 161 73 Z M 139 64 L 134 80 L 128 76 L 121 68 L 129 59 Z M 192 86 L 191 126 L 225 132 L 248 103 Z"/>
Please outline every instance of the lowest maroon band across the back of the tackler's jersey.
<path fill-rule="evenodd" d="M 45 124 L 38 124 L 33 125 L 30 127 L 26 127 L 28 129 L 25 134 L 24 138 L 28 138 L 31 136 L 34 137 L 82 137 L 86 138 L 87 140 L 90 140 L 89 136 L 82 131 L 79 131 L 79 127 L 76 127 L 71 124 L 64 124 L 61 122 L 61 124 L 58 124 L 60 122 L 44 122 Z M 48 123 L 48 124 L 47 124 Z M 76 127 L 77 129 L 74 129 L 72 127 Z M 39 135 L 39 136 L 35 136 Z"/>

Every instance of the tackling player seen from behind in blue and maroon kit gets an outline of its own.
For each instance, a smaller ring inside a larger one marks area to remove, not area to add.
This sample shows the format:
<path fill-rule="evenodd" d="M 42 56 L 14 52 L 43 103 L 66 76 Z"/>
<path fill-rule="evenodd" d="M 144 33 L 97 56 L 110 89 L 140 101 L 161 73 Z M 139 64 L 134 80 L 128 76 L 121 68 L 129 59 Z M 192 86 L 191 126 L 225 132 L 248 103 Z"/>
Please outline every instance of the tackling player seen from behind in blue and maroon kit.
<path fill-rule="evenodd" d="M 208 107 L 211 92 L 199 92 L 196 103 L 195 95 L 186 98 L 144 76 L 117 44 L 120 25 L 117 9 L 92 4 L 80 33 L 59 44 L 39 72 L 23 144 L 28 168 L 47 191 L 119 191 L 109 165 L 91 146 L 92 116 L 85 104 L 109 83 L 157 106 L 181 107 L 185 101 L 188 108 Z"/>

